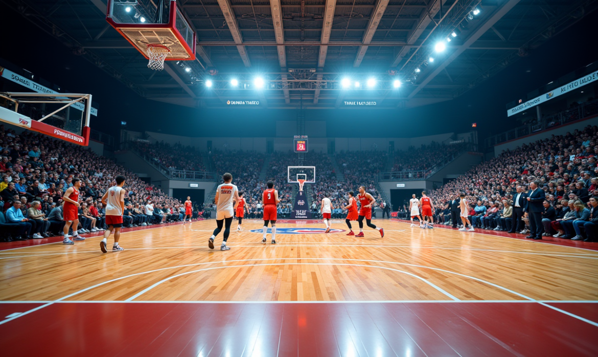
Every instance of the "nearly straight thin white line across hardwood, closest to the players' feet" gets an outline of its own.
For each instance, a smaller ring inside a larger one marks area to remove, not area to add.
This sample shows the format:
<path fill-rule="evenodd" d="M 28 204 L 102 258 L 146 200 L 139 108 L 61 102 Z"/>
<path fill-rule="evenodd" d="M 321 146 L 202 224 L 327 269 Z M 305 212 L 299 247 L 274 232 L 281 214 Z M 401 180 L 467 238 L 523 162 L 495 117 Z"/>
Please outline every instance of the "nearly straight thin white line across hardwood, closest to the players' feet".
<path fill-rule="evenodd" d="M 251 244 L 251 245 L 242 245 L 242 244 Z M 290 243 L 281 243 L 277 245 L 277 247 L 314 247 L 313 244 L 290 244 Z M 255 247 L 270 247 L 270 245 L 264 245 L 261 242 L 256 243 L 243 243 L 240 242 L 239 244 L 229 245 L 229 247 L 233 248 L 255 248 Z M 316 246 L 317 247 L 317 246 Z M 413 247 L 413 245 L 399 245 L 399 244 L 340 244 L 340 243 L 330 243 L 325 245 L 325 247 L 366 247 L 366 248 L 413 248 L 413 249 L 437 249 L 437 250 L 461 250 L 461 251 L 488 251 L 488 252 L 497 252 L 497 253 L 514 253 L 514 254 L 529 254 L 529 255 L 536 255 L 536 256 L 551 256 L 551 257 L 570 257 L 570 258 L 586 258 L 586 259 L 598 259 L 597 254 L 584 254 L 584 253 L 566 253 L 566 252 L 547 252 L 547 253 L 535 253 L 535 252 L 527 252 L 527 251 L 510 251 L 510 250 L 494 250 L 494 249 L 481 249 L 481 248 L 462 248 L 462 247 L 434 247 L 434 246 L 427 246 L 422 245 L 419 247 Z M 205 248 L 203 245 L 188 245 L 188 246 L 181 246 L 181 247 L 148 247 L 148 248 L 127 248 L 126 250 L 158 250 L 158 249 L 197 249 L 197 248 Z M 39 254 L 39 253 L 48 253 L 48 254 Z M 72 251 L 72 252 L 60 252 L 60 253 L 53 253 L 52 251 L 39 251 L 39 252 L 27 252 L 27 256 L 6 256 L 0 257 L 2 259 L 10 259 L 10 258 L 28 258 L 28 257 L 44 257 L 44 256 L 60 256 L 66 254 L 78 254 L 78 253 L 99 253 L 97 250 L 84 250 L 84 251 Z M 22 253 L 25 254 L 25 253 Z M 570 255 L 575 254 L 575 255 Z"/>

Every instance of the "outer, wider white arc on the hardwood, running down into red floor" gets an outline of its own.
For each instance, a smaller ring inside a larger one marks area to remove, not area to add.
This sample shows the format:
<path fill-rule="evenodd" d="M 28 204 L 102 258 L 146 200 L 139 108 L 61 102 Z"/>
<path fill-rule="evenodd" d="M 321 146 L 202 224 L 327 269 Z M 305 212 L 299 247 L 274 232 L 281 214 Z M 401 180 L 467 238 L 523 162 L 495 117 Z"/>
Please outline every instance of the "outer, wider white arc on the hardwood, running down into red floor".
<path fill-rule="evenodd" d="M 158 271 L 167 270 L 167 269 L 176 269 L 176 268 L 179 268 L 179 267 L 200 266 L 200 265 L 205 265 L 205 264 L 237 263 L 239 261 L 289 260 L 289 259 L 290 258 L 286 258 L 286 259 L 285 258 L 282 258 L 282 259 L 281 258 L 260 258 L 260 259 L 245 259 L 245 260 L 224 260 L 224 261 L 213 261 L 213 262 L 206 262 L 206 263 L 184 264 L 184 265 L 180 265 L 180 266 L 164 267 L 164 268 L 160 268 L 160 269 L 148 270 L 147 272 L 134 273 L 134 274 L 131 274 L 131 275 L 121 276 L 120 278 L 115 278 L 115 279 L 111 279 L 109 281 L 101 282 L 101 283 L 93 285 L 91 287 L 84 288 L 82 290 L 76 291 L 75 293 L 72 293 L 72 294 L 69 294 L 67 296 L 61 297 L 61 298 L 59 298 L 57 300 L 54 300 L 51 303 L 47 303 L 47 304 L 44 304 L 42 306 L 36 307 L 35 309 L 23 312 L 19 316 L 14 316 L 13 318 L 5 319 L 4 321 L 0 321 L 0 325 L 5 324 L 6 322 L 12 321 L 13 319 L 19 318 L 20 316 L 25 316 L 25 315 L 27 315 L 29 313 L 35 312 L 36 310 L 39 310 L 39 309 L 42 309 L 44 307 L 50 306 L 53 303 L 58 303 L 60 301 L 66 300 L 69 297 L 75 296 L 75 295 L 80 294 L 80 293 L 84 293 L 85 291 L 91 290 L 93 288 L 100 287 L 102 285 L 108 284 L 110 282 L 118 281 L 118 280 L 121 280 L 121 279 L 130 278 L 131 276 L 144 275 L 144 274 L 147 274 L 147 273 L 153 273 L 153 272 L 158 272 Z M 457 272 L 451 272 L 450 270 L 445 270 L 445 269 L 440 269 L 440 268 L 435 268 L 435 267 L 429 267 L 429 266 L 423 266 L 423 265 L 417 265 L 417 264 L 409 264 L 409 263 L 398 263 L 398 262 L 394 262 L 394 261 L 383 261 L 383 260 L 342 259 L 342 258 L 292 258 L 292 259 L 294 259 L 294 260 L 303 260 L 303 259 L 312 259 L 312 260 L 351 260 L 351 261 L 366 261 L 366 262 L 377 262 L 377 263 L 388 263 L 388 264 L 398 264 L 398 265 L 405 265 L 405 266 L 422 267 L 422 268 L 425 268 L 425 269 L 438 270 L 438 271 L 441 271 L 441 272 L 451 273 L 451 274 L 454 274 L 454 275 L 464 276 L 465 278 L 474 279 L 475 281 L 480 281 L 480 282 L 483 282 L 484 284 L 488 284 L 490 286 L 499 288 L 501 290 L 508 291 L 509 293 L 512 293 L 512 294 L 517 295 L 519 297 L 523 297 L 526 300 L 530 300 L 530 301 L 533 301 L 533 302 L 536 302 L 536 303 L 544 304 L 544 303 L 541 302 L 541 300 L 535 300 L 535 299 L 527 297 L 527 296 L 525 296 L 523 294 L 520 294 L 520 293 L 517 293 L 515 291 L 512 291 L 512 290 L 510 290 L 508 288 L 501 287 L 500 285 L 493 284 L 492 282 L 488 282 L 488 281 L 485 281 L 483 279 L 474 278 L 473 276 L 468 276 L 468 275 L 457 273 Z M 598 327 L 598 323 L 590 321 L 590 320 L 585 319 L 585 318 L 582 318 L 581 316 L 574 315 L 572 313 L 566 312 L 566 311 L 561 310 L 561 309 L 559 309 L 557 307 L 550 306 L 550 305 L 547 305 L 547 304 L 544 304 L 544 306 L 546 306 L 546 307 L 548 307 L 550 309 L 559 311 L 559 312 L 563 312 L 566 315 L 572 316 L 573 318 L 579 319 L 581 321 L 587 322 L 588 324 L 591 324 L 591 325 L 594 325 L 594 326 Z"/>

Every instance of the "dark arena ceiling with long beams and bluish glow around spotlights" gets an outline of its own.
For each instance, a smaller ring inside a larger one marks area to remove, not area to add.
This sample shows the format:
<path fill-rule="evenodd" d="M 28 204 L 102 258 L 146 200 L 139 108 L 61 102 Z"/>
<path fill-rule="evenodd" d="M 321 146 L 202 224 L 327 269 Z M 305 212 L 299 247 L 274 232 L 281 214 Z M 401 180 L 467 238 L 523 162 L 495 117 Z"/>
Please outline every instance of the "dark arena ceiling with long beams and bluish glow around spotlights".
<path fill-rule="evenodd" d="M 197 60 L 167 61 L 155 72 L 106 23 L 103 0 L 0 2 L 148 99 L 190 107 L 245 100 L 289 109 L 450 100 L 598 6 L 596 0 L 179 1 L 196 31 Z M 446 44 L 442 53 L 435 51 L 438 42 Z M 253 85 L 257 76 L 265 81 L 261 90 Z M 231 87 L 233 78 L 244 85 Z M 343 78 L 350 78 L 349 88 L 341 88 Z M 373 88 L 366 85 L 370 78 Z"/>

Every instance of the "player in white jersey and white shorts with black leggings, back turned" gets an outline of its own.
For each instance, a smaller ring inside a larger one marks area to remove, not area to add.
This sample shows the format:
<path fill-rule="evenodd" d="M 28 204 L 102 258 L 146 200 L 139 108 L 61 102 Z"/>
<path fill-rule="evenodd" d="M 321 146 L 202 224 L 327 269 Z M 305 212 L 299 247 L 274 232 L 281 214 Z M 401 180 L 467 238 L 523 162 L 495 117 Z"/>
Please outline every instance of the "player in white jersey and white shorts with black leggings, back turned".
<path fill-rule="evenodd" d="M 216 188 L 216 197 L 214 198 L 216 202 L 216 229 L 208 239 L 208 247 L 210 249 L 214 248 L 214 238 L 220 233 L 224 223 L 224 238 L 220 250 L 230 250 L 226 245 L 226 241 L 230 234 L 230 224 L 233 223 L 233 201 L 239 201 L 239 189 L 231 183 L 233 175 L 225 173 L 222 175 L 222 180 L 224 180 L 224 183 Z"/>

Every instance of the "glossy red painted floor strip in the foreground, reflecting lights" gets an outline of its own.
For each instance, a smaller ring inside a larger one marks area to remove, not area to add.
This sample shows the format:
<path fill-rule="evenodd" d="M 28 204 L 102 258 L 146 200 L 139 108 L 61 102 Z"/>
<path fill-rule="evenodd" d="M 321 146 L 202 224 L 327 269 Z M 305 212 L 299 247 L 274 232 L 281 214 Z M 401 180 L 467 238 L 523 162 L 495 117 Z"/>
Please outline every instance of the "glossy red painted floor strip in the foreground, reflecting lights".
<path fill-rule="evenodd" d="M 0 325 L 0 346 L 12 357 L 562 357 L 596 356 L 597 334 L 539 303 L 55 303 Z"/>

